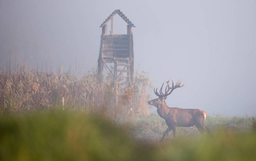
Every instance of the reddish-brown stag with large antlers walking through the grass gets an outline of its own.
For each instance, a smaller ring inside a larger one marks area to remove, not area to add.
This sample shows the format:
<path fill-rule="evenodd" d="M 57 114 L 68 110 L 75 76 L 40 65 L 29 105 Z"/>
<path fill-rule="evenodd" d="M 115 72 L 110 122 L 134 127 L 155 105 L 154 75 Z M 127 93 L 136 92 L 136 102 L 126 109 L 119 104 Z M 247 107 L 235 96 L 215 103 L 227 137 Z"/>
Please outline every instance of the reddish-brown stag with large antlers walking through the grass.
<path fill-rule="evenodd" d="M 181 80 L 178 80 L 178 82 L 173 84 L 172 79 L 172 87 L 169 86 L 169 81 L 166 81 L 167 85 L 165 88 L 165 93 L 163 93 L 163 85 L 159 90 L 159 93 L 157 92 L 157 89 L 154 92 L 156 96 L 158 96 L 157 99 L 150 100 L 148 103 L 149 105 L 157 107 L 157 113 L 160 115 L 161 118 L 163 118 L 168 126 L 168 128 L 165 130 L 164 135 L 162 137 L 162 140 L 164 139 L 165 135 L 168 134 L 171 130 L 173 131 L 174 138 L 176 137 L 176 128 L 177 127 L 191 127 L 196 126 L 200 133 L 202 134 L 204 131 L 210 134 L 210 130 L 205 126 L 205 121 L 207 117 L 207 113 L 204 111 L 201 111 L 200 109 L 182 109 L 177 107 L 168 107 L 165 103 L 165 99 L 167 96 L 169 96 L 173 90 L 185 86 L 182 84 Z"/>

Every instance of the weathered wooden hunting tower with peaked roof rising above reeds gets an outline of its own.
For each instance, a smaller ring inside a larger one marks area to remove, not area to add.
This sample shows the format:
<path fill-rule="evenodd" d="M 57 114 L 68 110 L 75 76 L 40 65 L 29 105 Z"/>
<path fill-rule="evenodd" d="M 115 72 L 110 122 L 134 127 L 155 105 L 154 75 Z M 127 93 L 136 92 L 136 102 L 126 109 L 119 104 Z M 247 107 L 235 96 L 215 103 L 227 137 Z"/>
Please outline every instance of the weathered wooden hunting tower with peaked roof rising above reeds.
<path fill-rule="evenodd" d="M 118 14 L 127 25 L 127 34 L 114 35 L 113 17 Z M 111 32 L 107 34 L 107 23 L 111 20 Z M 115 89 L 125 89 L 133 85 L 134 53 L 133 53 L 133 23 L 120 10 L 112 12 L 100 25 L 102 27 L 100 52 L 98 58 L 98 78 L 103 80 L 104 69 L 113 76 Z"/>

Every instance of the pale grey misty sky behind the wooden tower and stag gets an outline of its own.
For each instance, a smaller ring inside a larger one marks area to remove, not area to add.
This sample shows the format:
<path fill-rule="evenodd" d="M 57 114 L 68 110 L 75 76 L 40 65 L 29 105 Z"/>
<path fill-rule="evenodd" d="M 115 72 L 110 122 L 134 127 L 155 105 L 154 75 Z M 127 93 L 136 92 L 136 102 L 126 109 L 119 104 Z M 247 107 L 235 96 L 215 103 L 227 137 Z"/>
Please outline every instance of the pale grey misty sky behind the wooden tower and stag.
<path fill-rule="evenodd" d="M 135 70 L 153 86 L 182 78 L 170 107 L 256 116 L 256 1 L 0 0 L 0 68 L 9 53 L 40 70 L 97 68 L 101 23 L 120 9 L 133 27 Z M 126 34 L 114 17 L 114 34 Z M 154 96 L 153 91 L 152 98 Z"/>

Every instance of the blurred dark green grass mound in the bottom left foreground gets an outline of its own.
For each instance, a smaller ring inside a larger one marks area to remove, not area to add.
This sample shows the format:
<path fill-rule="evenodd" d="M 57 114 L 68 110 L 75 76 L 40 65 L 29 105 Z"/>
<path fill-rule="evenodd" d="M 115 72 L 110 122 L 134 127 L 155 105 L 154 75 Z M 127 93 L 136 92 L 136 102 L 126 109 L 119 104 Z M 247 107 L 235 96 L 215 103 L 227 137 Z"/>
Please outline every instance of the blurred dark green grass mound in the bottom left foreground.
<path fill-rule="evenodd" d="M 129 137 L 99 116 L 61 111 L 9 116 L 1 119 L 0 131 L 0 160 L 130 160 L 133 156 Z"/>

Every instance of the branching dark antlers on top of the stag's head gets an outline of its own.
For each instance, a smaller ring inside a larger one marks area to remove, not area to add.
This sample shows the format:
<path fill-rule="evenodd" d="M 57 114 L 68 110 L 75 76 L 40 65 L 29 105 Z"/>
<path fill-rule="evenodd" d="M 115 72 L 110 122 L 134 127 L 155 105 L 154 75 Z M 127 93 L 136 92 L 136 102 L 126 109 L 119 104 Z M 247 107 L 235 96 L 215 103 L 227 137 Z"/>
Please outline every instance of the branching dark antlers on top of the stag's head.
<path fill-rule="evenodd" d="M 175 90 L 175 89 L 177 89 L 177 88 L 179 88 L 179 87 L 185 86 L 184 84 L 182 84 L 182 80 L 181 80 L 181 79 L 178 80 L 177 83 L 176 83 L 175 86 L 174 86 L 173 78 L 172 78 L 172 87 L 170 87 L 169 82 L 170 82 L 170 79 L 169 79 L 168 81 L 166 81 L 167 85 L 166 85 L 166 87 L 165 87 L 165 94 L 163 93 L 163 86 L 164 86 L 164 83 L 165 83 L 165 82 L 164 82 L 163 85 L 161 86 L 161 88 L 160 88 L 160 90 L 159 90 L 159 93 L 157 92 L 157 89 L 158 89 L 158 88 L 156 88 L 156 87 L 154 88 L 154 92 L 155 92 L 156 96 L 158 96 L 158 97 L 166 97 L 166 96 L 169 96 L 169 95 L 172 93 L 173 90 Z M 182 84 L 182 85 L 181 85 L 181 84 Z"/>

